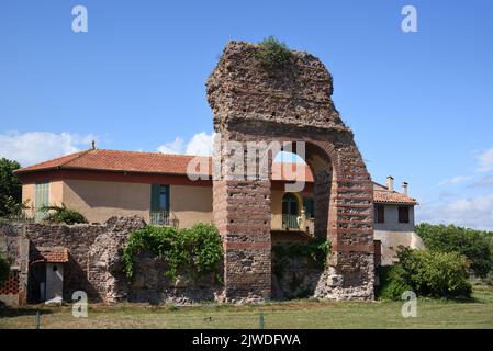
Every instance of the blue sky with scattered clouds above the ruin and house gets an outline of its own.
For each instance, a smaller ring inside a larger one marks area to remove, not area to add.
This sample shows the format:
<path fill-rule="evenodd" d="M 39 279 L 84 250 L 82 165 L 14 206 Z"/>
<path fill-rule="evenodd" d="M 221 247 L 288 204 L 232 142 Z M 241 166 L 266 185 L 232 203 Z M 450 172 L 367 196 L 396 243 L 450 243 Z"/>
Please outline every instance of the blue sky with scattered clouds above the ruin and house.
<path fill-rule="evenodd" d="M 88 33 L 71 9 L 88 9 Z M 417 33 L 401 9 L 417 10 Z M 376 181 L 417 220 L 493 229 L 493 2 L 2 1 L 0 157 L 89 147 L 186 152 L 212 133 L 204 83 L 231 39 L 320 57 Z"/>

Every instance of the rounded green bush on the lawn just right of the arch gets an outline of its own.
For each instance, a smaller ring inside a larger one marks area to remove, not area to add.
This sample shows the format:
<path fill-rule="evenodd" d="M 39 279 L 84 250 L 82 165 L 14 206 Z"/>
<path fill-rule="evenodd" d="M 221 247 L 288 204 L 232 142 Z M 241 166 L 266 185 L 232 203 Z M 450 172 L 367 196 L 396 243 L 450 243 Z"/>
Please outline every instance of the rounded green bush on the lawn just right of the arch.
<path fill-rule="evenodd" d="M 379 297 L 399 299 L 405 291 L 432 297 L 471 295 L 469 262 L 463 256 L 405 248 L 397 257 L 397 263 L 380 269 Z"/>

